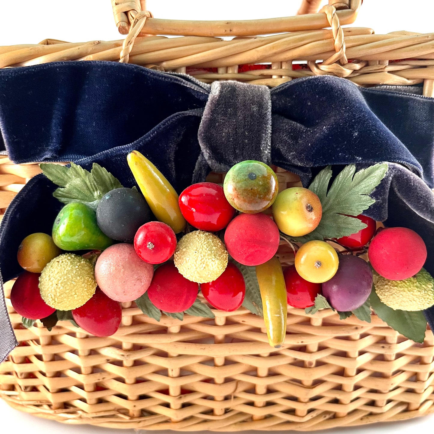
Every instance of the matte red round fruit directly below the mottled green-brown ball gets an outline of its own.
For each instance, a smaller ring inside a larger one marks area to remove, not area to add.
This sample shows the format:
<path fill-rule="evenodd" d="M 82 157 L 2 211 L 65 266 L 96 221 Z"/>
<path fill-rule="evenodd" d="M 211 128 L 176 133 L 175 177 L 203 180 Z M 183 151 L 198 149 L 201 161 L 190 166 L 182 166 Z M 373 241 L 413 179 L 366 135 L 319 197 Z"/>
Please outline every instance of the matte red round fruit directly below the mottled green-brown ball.
<path fill-rule="evenodd" d="M 277 252 L 280 236 L 277 225 L 265 214 L 240 214 L 224 234 L 227 251 L 243 265 L 260 265 Z"/>

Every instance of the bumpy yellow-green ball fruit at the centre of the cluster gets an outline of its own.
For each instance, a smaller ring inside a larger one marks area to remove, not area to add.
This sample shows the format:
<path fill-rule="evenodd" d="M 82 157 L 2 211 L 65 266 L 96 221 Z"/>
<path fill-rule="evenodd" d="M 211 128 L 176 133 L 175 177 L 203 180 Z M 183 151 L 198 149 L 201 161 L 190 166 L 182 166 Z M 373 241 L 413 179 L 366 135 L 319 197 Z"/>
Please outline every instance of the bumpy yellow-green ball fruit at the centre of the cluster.
<path fill-rule="evenodd" d="M 228 254 L 220 238 L 213 233 L 195 230 L 178 242 L 174 263 L 188 280 L 208 283 L 220 277 L 227 266 Z"/>

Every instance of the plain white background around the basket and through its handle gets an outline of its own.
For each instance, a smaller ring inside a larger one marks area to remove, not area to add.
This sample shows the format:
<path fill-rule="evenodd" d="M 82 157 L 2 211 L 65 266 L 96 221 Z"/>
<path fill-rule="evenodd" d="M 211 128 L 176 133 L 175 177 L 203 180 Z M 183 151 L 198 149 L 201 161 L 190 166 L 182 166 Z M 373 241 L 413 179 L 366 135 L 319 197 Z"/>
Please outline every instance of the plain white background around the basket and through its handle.
<path fill-rule="evenodd" d="M 148 0 L 156 18 L 237 20 L 294 15 L 301 0 Z M 434 31 L 432 0 L 365 0 L 355 26 L 375 33 Z M 121 39 L 110 0 L 0 0 L 0 45 L 38 43 L 46 38 L 69 42 Z M 333 430 L 340 434 L 432 432 L 434 415 L 392 424 Z M 102 434 L 115 430 L 85 425 L 60 425 L 12 410 L 0 400 L 1 434 Z M 119 434 L 121 431 L 118 431 Z M 133 430 L 123 431 L 132 434 Z M 257 431 L 256 431 L 257 432 Z M 330 432 L 330 431 L 329 431 Z M 162 433 L 163 434 L 163 433 Z"/>

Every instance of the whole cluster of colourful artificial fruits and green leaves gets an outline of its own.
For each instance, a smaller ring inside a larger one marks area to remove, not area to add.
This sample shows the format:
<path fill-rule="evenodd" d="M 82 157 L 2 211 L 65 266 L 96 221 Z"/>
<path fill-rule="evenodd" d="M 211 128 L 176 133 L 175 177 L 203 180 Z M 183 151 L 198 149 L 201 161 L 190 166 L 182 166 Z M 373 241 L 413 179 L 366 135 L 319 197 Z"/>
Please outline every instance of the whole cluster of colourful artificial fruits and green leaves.
<path fill-rule="evenodd" d="M 138 189 L 123 187 L 98 164 L 90 172 L 41 164 L 64 206 L 51 236 L 30 234 L 18 250 L 25 271 L 11 301 L 27 327 L 37 319 L 49 329 L 70 320 L 109 336 L 132 302 L 156 321 L 162 314 L 214 318 L 210 306 L 244 306 L 263 316 L 270 345 L 279 348 L 289 305 L 367 322 L 374 311 L 423 340 L 421 311 L 434 304 L 434 280 L 422 268 L 425 244 L 407 228 L 381 228 L 362 215 L 387 164 L 346 166 L 331 185 L 327 167 L 309 188 L 279 192 L 268 165 L 242 161 L 223 186 L 201 182 L 178 196 L 138 151 L 127 161 Z M 294 265 L 285 269 L 281 243 L 294 251 Z"/>

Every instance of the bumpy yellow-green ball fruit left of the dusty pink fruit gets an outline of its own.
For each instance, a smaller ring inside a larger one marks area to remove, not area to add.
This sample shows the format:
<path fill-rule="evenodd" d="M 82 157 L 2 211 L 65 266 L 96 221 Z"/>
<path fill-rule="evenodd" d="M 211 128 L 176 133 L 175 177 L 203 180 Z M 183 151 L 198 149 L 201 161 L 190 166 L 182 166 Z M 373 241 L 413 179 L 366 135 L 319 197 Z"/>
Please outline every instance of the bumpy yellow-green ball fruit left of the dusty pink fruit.
<path fill-rule="evenodd" d="M 95 294 L 95 289 L 92 262 L 73 253 L 54 258 L 39 277 L 42 299 L 59 310 L 83 306 Z"/>

